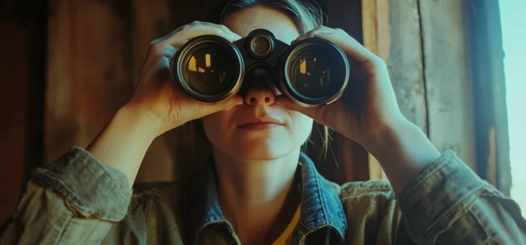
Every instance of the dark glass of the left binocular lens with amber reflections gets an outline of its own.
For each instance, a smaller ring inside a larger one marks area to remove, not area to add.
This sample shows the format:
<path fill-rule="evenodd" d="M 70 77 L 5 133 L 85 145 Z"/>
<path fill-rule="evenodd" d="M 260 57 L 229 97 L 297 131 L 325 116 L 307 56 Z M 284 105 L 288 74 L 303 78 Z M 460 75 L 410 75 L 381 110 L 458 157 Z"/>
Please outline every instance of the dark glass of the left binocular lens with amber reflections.
<path fill-rule="evenodd" d="M 185 80 L 191 90 L 199 94 L 221 94 L 235 82 L 234 62 L 234 57 L 222 48 L 201 48 L 187 58 Z"/>

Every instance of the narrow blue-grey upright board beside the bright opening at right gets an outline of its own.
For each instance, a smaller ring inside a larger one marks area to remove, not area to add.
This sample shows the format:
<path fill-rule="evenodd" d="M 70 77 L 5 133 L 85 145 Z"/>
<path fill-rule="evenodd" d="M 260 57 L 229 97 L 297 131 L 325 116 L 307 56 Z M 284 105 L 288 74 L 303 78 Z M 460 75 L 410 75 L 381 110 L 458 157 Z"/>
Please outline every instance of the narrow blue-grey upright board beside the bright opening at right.
<path fill-rule="evenodd" d="M 471 39 L 478 174 L 509 195 L 512 176 L 499 2 L 469 2 L 468 29 L 478 37 Z"/>

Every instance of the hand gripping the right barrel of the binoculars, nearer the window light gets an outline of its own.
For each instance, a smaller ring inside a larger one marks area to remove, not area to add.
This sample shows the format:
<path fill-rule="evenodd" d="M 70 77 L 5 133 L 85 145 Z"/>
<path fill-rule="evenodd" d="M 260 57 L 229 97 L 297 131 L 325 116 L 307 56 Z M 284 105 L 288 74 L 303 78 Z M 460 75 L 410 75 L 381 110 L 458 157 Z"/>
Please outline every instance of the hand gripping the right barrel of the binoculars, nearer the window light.
<path fill-rule="evenodd" d="M 299 111 L 316 122 L 330 127 L 365 148 L 374 145 L 382 133 L 409 123 L 400 112 L 384 61 L 363 47 L 342 29 L 317 27 L 299 36 L 323 38 L 337 44 L 346 53 L 351 66 L 349 83 L 343 96 L 332 104 L 306 108 L 284 95 L 276 102 Z"/>

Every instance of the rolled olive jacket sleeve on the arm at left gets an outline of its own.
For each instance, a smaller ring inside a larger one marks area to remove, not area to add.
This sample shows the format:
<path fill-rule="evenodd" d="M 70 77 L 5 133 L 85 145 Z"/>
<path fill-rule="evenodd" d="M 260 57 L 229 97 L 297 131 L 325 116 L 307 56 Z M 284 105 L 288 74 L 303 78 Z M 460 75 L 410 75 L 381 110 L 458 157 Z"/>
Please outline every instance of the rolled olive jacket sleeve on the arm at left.
<path fill-rule="evenodd" d="M 99 244 L 128 211 L 126 176 L 73 147 L 36 169 L 0 229 L 0 244 Z"/>

